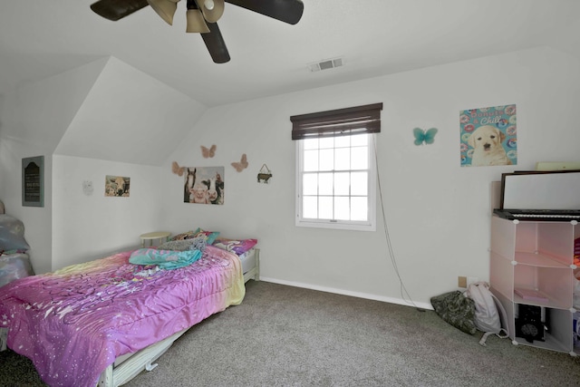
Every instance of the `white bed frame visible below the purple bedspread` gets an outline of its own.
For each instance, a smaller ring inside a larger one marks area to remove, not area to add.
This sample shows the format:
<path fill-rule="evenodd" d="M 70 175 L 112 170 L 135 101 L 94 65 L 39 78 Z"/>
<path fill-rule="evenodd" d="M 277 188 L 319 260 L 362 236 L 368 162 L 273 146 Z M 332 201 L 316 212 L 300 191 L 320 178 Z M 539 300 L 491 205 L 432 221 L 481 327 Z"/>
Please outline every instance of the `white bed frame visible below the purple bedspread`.
<path fill-rule="evenodd" d="M 250 279 L 254 281 L 260 280 L 260 250 L 254 248 L 250 254 L 254 255 L 254 266 L 252 266 L 246 273 L 244 273 L 244 283 Z M 248 256 L 251 258 L 251 255 Z M 189 329 L 189 328 L 188 328 Z M 136 353 L 127 353 L 117 358 L 115 363 L 101 373 L 98 387 L 117 387 L 121 384 L 131 381 L 143 370 L 151 371 L 157 367 L 155 362 L 163 353 L 165 353 L 171 344 L 175 342 L 179 336 L 185 334 L 188 329 L 169 336 L 167 339 L 161 340 L 158 343 L 151 344 L 147 348 L 143 348 Z"/>

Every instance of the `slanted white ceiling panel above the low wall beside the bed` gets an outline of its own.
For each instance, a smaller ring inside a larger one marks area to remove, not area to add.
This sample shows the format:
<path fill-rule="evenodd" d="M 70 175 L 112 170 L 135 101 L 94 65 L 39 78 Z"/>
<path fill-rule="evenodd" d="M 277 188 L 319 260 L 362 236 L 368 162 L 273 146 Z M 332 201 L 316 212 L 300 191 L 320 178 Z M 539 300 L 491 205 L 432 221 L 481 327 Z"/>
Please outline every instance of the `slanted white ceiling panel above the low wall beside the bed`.
<path fill-rule="evenodd" d="M 54 154 L 162 165 L 207 108 L 116 58 L 99 62 L 102 71 Z"/>

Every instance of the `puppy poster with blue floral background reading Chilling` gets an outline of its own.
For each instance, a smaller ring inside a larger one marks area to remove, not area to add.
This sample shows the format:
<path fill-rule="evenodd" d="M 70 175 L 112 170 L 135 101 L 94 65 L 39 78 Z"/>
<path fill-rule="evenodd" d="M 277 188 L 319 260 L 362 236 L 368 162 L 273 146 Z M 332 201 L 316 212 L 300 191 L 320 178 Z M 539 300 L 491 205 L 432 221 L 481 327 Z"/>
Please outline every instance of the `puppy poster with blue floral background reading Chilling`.
<path fill-rule="evenodd" d="M 517 165 L 516 105 L 459 112 L 461 167 Z"/>

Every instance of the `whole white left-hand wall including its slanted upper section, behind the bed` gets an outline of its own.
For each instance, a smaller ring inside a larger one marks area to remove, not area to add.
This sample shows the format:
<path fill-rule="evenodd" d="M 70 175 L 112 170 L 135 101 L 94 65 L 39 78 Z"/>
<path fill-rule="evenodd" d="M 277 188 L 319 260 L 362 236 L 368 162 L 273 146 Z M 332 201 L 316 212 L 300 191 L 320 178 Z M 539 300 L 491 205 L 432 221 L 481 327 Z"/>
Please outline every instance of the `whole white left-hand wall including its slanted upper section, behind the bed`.
<path fill-rule="evenodd" d="M 139 235 L 158 223 L 160 163 L 205 110 L 112 57 L 3 97 L 0 198 L 7 213 L 24 222 L 34 271 L 137 245 Z M 44 207 L 23 207 L 21 160 L 40 155 Z M 105 199 L 106 175 L 130 177 L 136 193 Z M 95 185 L 92 200 L 82 194 L 85 179 Z"/>

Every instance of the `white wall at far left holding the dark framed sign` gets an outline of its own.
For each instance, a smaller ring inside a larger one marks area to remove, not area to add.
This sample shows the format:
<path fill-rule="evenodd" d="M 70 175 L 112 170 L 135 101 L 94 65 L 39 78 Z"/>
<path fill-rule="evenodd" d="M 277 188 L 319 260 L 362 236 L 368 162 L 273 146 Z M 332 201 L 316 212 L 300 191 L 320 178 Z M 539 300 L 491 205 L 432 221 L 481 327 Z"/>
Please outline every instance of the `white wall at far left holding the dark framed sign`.
<path fill-rule="evenodd" d="M 6 213 L 24 222 L 36 273 L 52 270 L 53 150 L 82 105 L 104 61 L 89 63 L 5 96 L 0 127 L 0 165 Z M 22 206 L 22 159 L 44 156 L 44 207 Z"/>

